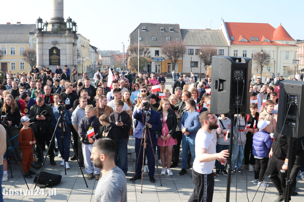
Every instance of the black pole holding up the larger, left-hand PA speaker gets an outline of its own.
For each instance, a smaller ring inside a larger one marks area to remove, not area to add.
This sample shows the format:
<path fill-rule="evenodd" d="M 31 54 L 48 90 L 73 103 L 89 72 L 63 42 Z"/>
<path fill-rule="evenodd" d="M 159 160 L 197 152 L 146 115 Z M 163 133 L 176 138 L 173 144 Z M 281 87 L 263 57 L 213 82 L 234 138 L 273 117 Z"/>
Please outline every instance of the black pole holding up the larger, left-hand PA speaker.
<path fill-rule="evenodd" d="M 232 163 L 232 148 L 233 148 L 233 130 L 234 130 L 234 113 L 231 114 L 230 119 L 230 144 L 229 144 L 229 159 L 227 166 L 227 188 L 226 188 L 226 202 L 230 201 L 230 187 L 231 187 L 231 163 Z"/>

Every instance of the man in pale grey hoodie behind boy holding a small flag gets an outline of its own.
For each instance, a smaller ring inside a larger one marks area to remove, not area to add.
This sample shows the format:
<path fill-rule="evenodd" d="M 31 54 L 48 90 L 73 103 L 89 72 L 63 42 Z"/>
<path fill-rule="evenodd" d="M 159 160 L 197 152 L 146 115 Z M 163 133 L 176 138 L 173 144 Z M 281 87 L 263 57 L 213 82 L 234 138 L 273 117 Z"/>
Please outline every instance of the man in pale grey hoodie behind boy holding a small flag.
<path fill-rule="evenodd" d="M 79 103 L 72 113 L 72 125 L 74 129 L 78 133 L 78 126 L 83 117 L 85 117 L 85 107 L 88 105 L 88 99 L 87 96 L 80 96 L 79 97 Z M 79 133 L 78 133 L 79 134 Z M 80 136 L 78 135 L 78 160 L 79 160 L 79 168 L 83 168 L 83 154 L 82 154 L 82 143 L 80 141 Z"/>

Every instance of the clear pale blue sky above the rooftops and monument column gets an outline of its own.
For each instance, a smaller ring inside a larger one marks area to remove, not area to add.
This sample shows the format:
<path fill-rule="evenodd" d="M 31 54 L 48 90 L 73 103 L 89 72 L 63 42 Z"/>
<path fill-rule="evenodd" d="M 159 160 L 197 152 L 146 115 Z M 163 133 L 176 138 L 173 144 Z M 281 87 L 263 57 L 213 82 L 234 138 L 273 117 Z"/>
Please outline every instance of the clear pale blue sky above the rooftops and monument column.
<path fill-rule="evenodd" d="M 50 0 L 1 0 L 0 24 L 35 24 L 51 18 Z M 303 1 L 64 0 L 64 19 L 77 22 L 78 32 L 101 50 L 128 47 L 130 33 L 141 23 L 179 24 L 181 29 L 218 29 L 225 22 L 280 23 L 293 39 L 304 39 Z M 298 7 L 299 6 L 299 7 Z"/>

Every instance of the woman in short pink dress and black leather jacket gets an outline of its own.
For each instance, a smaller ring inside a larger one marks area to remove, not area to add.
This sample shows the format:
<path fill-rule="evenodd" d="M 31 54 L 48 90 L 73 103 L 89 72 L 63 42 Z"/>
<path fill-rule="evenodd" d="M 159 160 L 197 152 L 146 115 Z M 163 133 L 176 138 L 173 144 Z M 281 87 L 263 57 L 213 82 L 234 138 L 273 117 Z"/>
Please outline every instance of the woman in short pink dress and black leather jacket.
<path fill-rule="evenodd" d="M 172 150 L 173 145 L 177 144 L 177 140 L 173 139 L 172 134 L 177 126 L 177 119 L 174 110 L 169 109 L 170 103 L 168 100 L 161 100 L 161 104 L 157 110 L 160 115 L 161 122 L 163 123 L 163 127 L 160 136 L 157 138 L 157 145 L 161 148 L 161 164 L 163 169 L 161 170 L 161 174 L 165 175 L 173 175 L 170 166 L 172 160 Z M 167 153 L 167 158 L 166 158 Z M 167 161 L 166 161 L 167 160 Z M 167 162 L 167 169 L 166 169 Z"/>

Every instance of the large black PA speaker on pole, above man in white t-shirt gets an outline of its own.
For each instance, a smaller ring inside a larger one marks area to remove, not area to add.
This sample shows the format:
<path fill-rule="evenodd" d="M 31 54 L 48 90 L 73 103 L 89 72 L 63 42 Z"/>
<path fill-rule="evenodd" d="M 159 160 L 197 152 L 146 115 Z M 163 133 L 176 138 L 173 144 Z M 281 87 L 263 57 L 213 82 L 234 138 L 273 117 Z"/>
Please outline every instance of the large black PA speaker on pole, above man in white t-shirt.
<path fill-rule="evenodd" d="M 249 113 L 251 58 L 212 56 L 211 71 L 210 112 Z"/>

